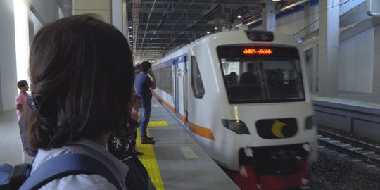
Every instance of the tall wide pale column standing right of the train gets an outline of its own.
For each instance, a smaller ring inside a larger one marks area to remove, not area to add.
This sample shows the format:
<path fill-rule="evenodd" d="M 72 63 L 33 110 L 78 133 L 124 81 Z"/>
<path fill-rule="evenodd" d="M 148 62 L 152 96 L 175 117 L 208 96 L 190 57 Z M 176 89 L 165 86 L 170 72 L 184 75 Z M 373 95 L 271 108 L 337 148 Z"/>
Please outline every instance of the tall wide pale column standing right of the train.
<path fill-rule="evenodd" d="M 319 96 L 338 95 L 339 0 L 319 1 Z"/>

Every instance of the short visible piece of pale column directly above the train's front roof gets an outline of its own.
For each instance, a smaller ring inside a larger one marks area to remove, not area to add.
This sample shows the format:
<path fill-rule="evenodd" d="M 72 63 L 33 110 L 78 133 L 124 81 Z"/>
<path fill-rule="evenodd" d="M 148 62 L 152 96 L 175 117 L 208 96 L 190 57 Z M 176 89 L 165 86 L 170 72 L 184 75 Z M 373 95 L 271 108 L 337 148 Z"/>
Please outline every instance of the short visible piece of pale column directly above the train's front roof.
<path fill-rule="evenodd" d="M 262 29 L 267 31 L 276 30 L 276 3 L 266 1 L 265 8 L 262 10 Z"/>

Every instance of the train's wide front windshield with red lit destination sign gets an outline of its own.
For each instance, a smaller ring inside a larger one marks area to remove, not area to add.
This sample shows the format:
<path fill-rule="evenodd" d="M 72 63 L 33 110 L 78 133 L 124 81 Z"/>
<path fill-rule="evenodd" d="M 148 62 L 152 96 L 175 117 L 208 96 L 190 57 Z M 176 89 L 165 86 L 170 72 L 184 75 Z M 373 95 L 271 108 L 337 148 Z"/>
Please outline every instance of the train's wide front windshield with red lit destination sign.
<path fill-rule="evenodd" d="M 230 103 L 305 101 L 298 50 L 289 46 L 218 46 Z"/>

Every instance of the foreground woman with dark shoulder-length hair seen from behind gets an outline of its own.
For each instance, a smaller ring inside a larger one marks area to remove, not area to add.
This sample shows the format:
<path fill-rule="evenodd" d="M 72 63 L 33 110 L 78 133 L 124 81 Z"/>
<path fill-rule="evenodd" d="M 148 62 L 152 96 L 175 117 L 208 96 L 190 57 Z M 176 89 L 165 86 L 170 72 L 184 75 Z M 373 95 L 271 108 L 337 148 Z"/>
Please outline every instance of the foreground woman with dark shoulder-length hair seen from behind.
<path fill-rule="evenodd" d="M 125 187 L 128 167 L 106 149 L 111 132 L 131 119 L 134 68 L 127 40 L 94 15 L 62 18 L 42 27 L 30 49 L 34 84 L 25 112 L 32 174 L 46 160 L 81 153 L 106 165 Z M 59 165 L 59 163 L 57 163 Z M 42 189 L 115 189 L 101 175 L 69 175 Z"/>

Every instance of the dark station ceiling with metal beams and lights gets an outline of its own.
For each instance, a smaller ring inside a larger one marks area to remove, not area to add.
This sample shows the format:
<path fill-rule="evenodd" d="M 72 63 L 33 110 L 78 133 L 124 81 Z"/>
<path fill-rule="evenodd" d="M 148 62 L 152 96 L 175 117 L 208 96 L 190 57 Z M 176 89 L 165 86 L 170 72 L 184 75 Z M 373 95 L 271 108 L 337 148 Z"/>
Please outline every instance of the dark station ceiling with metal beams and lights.
<path fill-rule="evenodd" d="M 260 20 L 267 0 L 129 0 L 134 58 L 154 61 L 207 34 Z M 270 1 L 270 0 L 269 0 Z M 276 10 L 305 0 L 281 0 Z"/>

